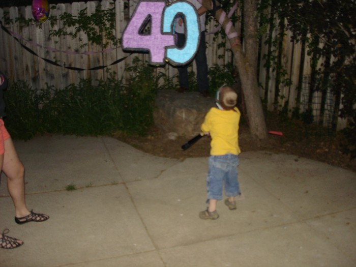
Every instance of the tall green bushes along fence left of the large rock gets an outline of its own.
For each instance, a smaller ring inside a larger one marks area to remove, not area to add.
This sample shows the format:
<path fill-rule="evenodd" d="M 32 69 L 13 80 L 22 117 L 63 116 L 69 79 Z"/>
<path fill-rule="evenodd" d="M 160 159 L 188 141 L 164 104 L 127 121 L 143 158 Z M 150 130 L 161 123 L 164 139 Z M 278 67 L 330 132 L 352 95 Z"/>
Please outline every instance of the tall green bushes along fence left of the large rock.
<path fill-rule="evenodd" d="M 129 82 L 110 76 L 95 83 L 41 90 L 25 82 L 9 86 L 5 94 L 6 126 L 14 139 L 36 134 L 109 135 L 115 131 L 143 135 L 153 124 L 157 80 L 153 67 L 136 61 L 127 69 Z"/>

